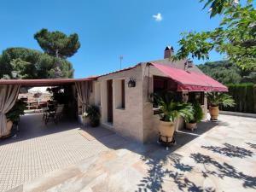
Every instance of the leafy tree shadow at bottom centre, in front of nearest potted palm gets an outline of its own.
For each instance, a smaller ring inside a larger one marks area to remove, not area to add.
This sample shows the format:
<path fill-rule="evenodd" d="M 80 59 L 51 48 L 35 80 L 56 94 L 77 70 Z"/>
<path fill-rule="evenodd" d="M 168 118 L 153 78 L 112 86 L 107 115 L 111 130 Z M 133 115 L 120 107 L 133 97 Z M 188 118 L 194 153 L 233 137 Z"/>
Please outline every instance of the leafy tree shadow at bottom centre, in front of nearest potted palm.
<path fill-rule="evenodd" d="M 138 184 L 137 192 L 157 192 L 165 191 L 163 183 L 167 180 L 172 180 L 177 185 L 177 189 L 181 191 L 194 191 L 194 192 L 214 192 L 215 189 L 203 188 L 185 177 L 186 172 L 191 172 L 193 166 L 185 165 L 181 162 L 182 155 L 171 154 L 167 155 L 164 159 L 154 160 L 143 156 L 143 161 L 148 165 L 148 174 Z M 166 168 L 169 164 L 175 168 L 175 171 Z"/>

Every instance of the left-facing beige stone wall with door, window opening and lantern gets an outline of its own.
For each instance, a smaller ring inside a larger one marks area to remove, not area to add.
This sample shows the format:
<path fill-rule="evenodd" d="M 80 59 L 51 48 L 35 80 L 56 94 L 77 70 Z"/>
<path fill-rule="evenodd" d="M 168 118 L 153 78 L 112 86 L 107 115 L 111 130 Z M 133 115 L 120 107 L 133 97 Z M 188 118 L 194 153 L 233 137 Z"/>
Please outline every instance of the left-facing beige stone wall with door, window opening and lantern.
<path fill-rule="evenodd" d="M 136 79 L 136 87 L 129 88 L 130 78 Z M 107 80 L 113 79 L 113 125 L 108 124 Z M 125 108 L 119 108 L 119 81 L 125 79 Z M 142 67 L 138 66 L 98 79 L 101 84 L 102 125 L 113 129 L 124 137 L 143 143 L 143 79 Z"/>

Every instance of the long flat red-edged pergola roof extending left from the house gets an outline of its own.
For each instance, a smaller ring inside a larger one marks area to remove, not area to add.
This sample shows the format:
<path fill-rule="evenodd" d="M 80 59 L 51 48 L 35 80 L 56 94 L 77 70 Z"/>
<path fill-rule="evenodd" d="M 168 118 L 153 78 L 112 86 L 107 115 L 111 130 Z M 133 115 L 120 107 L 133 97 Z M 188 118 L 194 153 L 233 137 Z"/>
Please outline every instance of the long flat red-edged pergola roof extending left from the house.
<path fill-rule="evenodd" d="M 92 81 L 97 77 L 90 77 L 84 79 L 0 79 L 1 84 L 20 84 L 21 86 L 56 86 L 63 84 L 74 84 L 76 82 Z"/>

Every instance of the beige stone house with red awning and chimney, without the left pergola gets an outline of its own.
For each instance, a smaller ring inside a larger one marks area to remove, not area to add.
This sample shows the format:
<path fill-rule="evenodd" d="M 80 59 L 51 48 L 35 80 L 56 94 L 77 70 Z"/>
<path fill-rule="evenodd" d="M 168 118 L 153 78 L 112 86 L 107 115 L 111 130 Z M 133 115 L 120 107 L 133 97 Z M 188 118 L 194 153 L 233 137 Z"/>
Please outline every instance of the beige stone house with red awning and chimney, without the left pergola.
<path fill-rule="evenodd" d="M 190 95 L 196 96 L 207 113 L 205 92 L 227 88 L 202 73 L 191 61 L 171 61 L 173 52 L 168 46 L 162 60 L 141 62 L 93 80 L 90 104 L 101 108 L 102 126 L 140 143 L 155 141 L 158 115 L 154 114 L 149 97 L 159 90 L 176 91 L 184 102 Z M 78 105 L 81 114 L 81 103 Z M 183 119 L 176 124 L 176 129 L 183 127 Z"/>

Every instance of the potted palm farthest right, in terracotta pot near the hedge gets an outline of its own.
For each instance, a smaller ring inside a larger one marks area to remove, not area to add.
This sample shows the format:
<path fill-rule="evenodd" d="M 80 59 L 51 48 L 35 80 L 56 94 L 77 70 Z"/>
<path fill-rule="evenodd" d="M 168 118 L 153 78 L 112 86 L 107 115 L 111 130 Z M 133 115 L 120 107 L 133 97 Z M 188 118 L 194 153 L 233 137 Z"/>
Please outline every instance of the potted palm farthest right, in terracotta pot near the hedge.
<path fill-rule="evenodd" d="M 218 120 L 218 106 L 222 104 L 224 107 L 233 107 L 236 105 L 232 96 L 222 92 L 207 93 L 207 100 L 209 103 L 209 113 L 211 120 Z"/>

